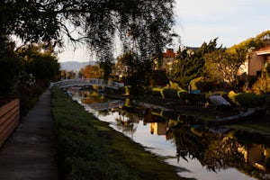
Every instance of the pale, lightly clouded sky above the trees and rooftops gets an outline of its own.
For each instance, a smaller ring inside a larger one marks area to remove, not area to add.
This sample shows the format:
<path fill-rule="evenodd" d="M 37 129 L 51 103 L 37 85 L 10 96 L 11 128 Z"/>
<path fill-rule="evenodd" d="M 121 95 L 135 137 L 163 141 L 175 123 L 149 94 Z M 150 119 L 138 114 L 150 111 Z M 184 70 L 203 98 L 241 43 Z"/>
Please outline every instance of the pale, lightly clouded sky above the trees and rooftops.
<path fill-rule="evenodd" d="M 175 0 L 175 32 L 181 45 L 200 47 L 218 38 L 218 44 L 231 47 L 270 30 L 270 0 Z M 179 47 L 179 44 L 177 45 Z M 175 49 L 178 49 L 175 47 Z M 59 62 L 89 61 L 85 47 L 67 46 Z"/>

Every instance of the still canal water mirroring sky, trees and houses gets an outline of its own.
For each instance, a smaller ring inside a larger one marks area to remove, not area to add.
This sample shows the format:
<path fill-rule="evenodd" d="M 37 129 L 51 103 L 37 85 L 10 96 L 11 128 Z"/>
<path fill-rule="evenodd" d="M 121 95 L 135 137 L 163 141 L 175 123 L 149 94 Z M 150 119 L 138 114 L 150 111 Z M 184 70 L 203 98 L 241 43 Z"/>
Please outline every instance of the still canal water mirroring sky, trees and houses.
<path fill-rule="evenodd" d="M 270 140 L 266 136 L 209 127 L 192 116 L 96 92 L 73 91 L 73 99 L 166 163 L 194 179 L 270 179 Z M 267 164 L 267 165 L 266 165 Z M 269 173 L 269 169 L 268 169 Z"/>

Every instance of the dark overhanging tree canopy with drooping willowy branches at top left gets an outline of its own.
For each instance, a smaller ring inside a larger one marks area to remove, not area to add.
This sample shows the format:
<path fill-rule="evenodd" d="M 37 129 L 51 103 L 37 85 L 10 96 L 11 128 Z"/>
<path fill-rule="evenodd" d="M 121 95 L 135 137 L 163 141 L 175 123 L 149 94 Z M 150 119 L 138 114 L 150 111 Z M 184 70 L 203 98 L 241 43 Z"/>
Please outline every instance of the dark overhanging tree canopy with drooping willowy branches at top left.
<path fill-rule="evenodd" d="M 6 0 L 1 2 L 0 30 L 23 42 L 59 44 L 66 34 L 86 42 L 100 59 L 112 56 L 115 33 L 123 49 L 136 49 L 146 60 L 172 40 L 174 0 Z M 76 31 L 76 33 L 73 33 Z"/>

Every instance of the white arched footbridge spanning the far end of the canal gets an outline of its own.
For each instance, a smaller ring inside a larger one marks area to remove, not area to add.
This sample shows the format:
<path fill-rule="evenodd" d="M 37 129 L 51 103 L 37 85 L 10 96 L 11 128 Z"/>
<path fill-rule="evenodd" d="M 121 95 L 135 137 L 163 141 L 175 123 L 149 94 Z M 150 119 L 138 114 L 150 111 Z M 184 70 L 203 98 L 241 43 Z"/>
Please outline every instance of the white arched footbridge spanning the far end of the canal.
<path fill-rule="evenodd" d="M 84 86 L 84 85 L 100 85 L 100 86 L 106 86 L 112 89 L 119 89 L 119 87 L 124 86 L 123 83 L 117 83 L 114 81 L 105 82 L 103 79 L 97 79 L 97 78 L 74 78 L 74 79 L 65 79 L 62 81 L 51 83 L 49 87 L 58 86 L 59 88 L 65 88 L 69 86 Z"/>

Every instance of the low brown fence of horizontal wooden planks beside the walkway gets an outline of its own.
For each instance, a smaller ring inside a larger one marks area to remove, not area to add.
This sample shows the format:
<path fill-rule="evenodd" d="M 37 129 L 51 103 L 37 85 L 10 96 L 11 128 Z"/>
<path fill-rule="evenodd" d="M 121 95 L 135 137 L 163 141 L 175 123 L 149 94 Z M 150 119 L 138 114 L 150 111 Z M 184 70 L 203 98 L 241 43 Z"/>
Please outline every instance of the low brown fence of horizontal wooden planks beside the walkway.
<path fill-rule="evenodd" d="M 20 122 L 20 100 L 15 99 L 0 107 L 0 147 Z"/>

